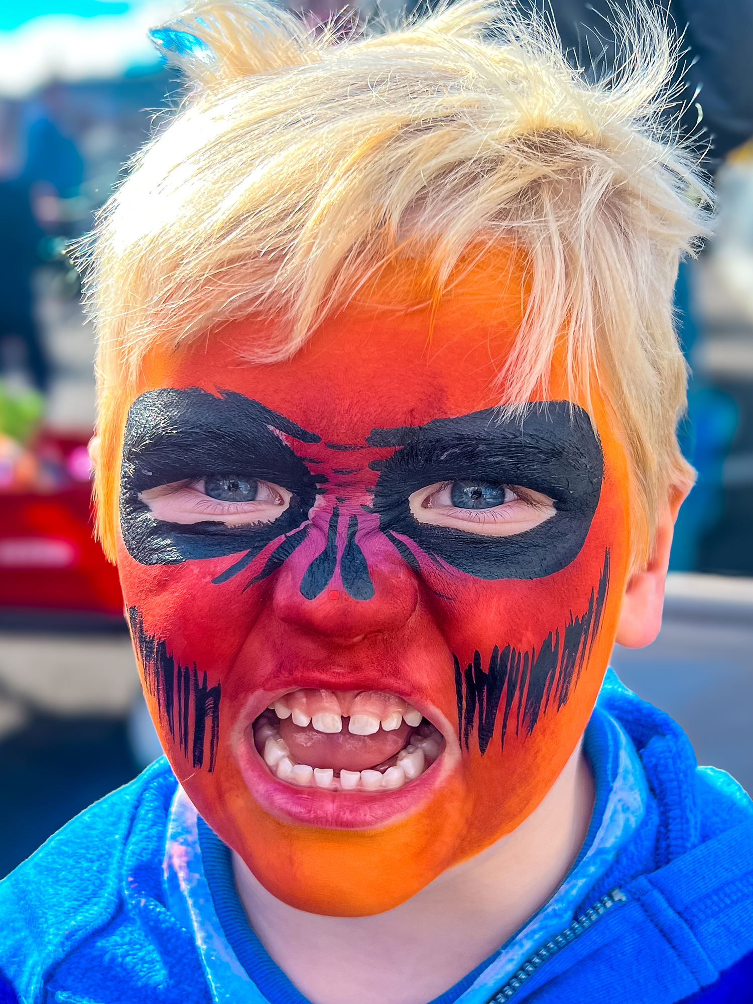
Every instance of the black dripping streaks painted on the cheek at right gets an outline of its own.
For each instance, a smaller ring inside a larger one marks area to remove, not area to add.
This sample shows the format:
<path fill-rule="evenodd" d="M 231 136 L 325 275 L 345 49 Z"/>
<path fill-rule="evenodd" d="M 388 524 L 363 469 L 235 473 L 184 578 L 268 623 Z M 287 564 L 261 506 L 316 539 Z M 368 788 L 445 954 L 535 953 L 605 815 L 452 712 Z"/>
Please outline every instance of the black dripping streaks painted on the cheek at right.
<path fill-rule="evenodd" d="M 560 635 L 549 634 L 538 652 L 518 652 L 512 646 L 500 649 L 495 646 L 485 670 L 479 652 L 465 670 L 457 656 L 455 663 L 455 688 L 458 699 L 458 739 L 469 748 L 470 737 L 477 733 L 479 750 L 483 755 L 494 735 L 497 714 L 505 694 L 502 718 L 501 745 L 505 737 L 513 704 L 517 702 L 516 732 L 521 725 L 530 735 L 542 712 L 552 698 L 557 708 L 563 707 L 572 686 L 593 651 L 601 624 L 604 603 L 609 587 L 609 552 L 604 553 L 604 563 L 598 585 L 591 589 L 587 609 L 577 617 L 570 613 L 569 622 Z"/>

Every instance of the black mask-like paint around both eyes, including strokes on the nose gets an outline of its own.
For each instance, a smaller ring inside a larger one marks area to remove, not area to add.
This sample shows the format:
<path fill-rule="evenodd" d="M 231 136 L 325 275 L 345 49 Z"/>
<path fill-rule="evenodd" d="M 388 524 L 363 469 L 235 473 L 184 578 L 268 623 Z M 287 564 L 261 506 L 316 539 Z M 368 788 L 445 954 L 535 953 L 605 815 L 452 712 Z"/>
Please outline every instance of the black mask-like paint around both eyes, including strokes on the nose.
<path fill-rule="evenodd" d="M 167 388 L 142 395 L 129 412 L 123 441 L 120 523 L 131 555 L 141 564 L 178 564 L 243 551 L 213 580 L 219 584 L 282 537 L 251 582 L 279 568 L 306 538 L 309 510 L 327 479 L 311 473 L 275 430 L 302 443 L 320 442 L 315 433 L 234 392 L 216 397 L 198 388 Z M 370 508 L 383 532 L 415 571 L 420 571 L 415 555 L 395 534 L 409 537 L 430 557 L 484 579 L 541 578 L 569 564 L 585 540 L 603 474 L 588 416 L 567 402 L 533 405 L 522 420 L 500 422 L 497 411 L 487 409 L 421 427 L 375 429 L 359 447 L 326 445 L 343 450 L 397 447 L 389 459 L 369 465 L 380 472 Z M 290 503 L 271 523 L 226 526 L 209 520 L 159 520 L 140 498 L 147 489 L 208 474 L 270 481 L 291 492 Z M 436 482 L 474 480 L 539 491 L 554 500 L 555 514 L 508 537 L 424 524 L 413 516 L 413 492 Z M 355 517 L 350 523 L 340 559 L 343 585 L 353 598 L 368 599 L 373 587 L 354 541 Z M 335 560 L 335 526 L 336 519 L 325 553 L 304 575 L 301 591 L 307 598 L 326 584 L 325 572 Z"/>

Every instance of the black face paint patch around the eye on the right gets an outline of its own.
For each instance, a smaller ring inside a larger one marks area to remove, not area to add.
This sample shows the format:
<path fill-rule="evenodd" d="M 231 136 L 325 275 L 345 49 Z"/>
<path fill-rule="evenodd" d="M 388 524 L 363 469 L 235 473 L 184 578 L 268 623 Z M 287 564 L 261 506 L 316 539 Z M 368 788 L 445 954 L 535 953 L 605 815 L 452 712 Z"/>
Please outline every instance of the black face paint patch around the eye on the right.
<path fill-rule="evenodd" d="M 603 477 L 601 447 L 586 413 L 568 402 L 537 404 L 525 417 L 499 421 L 496 409 L 421 427 L 375 429 L 369 446 L 398 446 L 374 461 L 373 512 L 396 542 L 400 533 L 428 555 L 484 579 L 543 578 L 579 553 L 596 511 Z M 409 496 L 446 481 L 519 485 L 549 496 L 555 513 L 507 537 L 420 523 Z"/>

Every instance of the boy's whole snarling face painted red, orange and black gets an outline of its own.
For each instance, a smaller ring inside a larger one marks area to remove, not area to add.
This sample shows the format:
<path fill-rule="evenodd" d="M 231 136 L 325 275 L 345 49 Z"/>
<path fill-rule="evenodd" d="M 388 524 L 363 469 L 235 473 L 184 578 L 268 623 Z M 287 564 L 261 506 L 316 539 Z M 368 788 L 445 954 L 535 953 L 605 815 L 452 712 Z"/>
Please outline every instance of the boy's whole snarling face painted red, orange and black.
<path fill-rule="evenodd" d="M 129 415 L 152 715 L 204 818 L 305 911 L 388 910 L 514 829 L 607 663 L 624 455 L 557 365 L 547 408 L 495 418 L 521 301 L 501 261 L 434 317 L 348 307 L 286 362 L 241 363 L 261 325 L 230 324 L 153 359 Z"/>

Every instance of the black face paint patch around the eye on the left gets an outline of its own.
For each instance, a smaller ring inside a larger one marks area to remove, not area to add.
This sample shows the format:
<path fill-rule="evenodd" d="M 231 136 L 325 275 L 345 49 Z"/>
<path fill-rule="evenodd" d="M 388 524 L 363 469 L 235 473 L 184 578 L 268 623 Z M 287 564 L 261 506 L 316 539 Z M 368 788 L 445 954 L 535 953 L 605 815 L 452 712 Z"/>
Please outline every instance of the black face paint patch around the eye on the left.
<path fill-rule="evenodd" d="M 271 427 L 271 428 L 270 428 Z M 120 526 L 129 553 L 141 564 L 178 564 L 191 558 L 247 551 L 229 569 L 249 564 L 270 541 L 298 529 L 308 518 L 326 478 L 315 478 L 272 430 L 303 443 L 319 437 L 241 394 L 215 397 L 192 388 L 143 394 L 129 411 L 122 447 Z M 226 526 L 222 522 L 169 523 L 157 519 L 140 494 L 149 488 L 207 474 L 240 474 L 271 481 L 292 493 L 272 523 Z M 285 556 L 305 533 L 283 542 Z M 269 562 L 268 562 L 269 563 Z M 277 567 L 279 561 L 266 573 Z M 230 577 L 227 573 L 223 580 Z"/>

